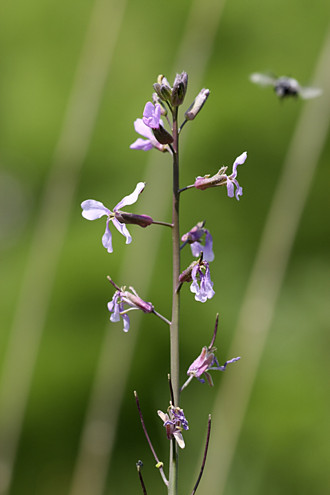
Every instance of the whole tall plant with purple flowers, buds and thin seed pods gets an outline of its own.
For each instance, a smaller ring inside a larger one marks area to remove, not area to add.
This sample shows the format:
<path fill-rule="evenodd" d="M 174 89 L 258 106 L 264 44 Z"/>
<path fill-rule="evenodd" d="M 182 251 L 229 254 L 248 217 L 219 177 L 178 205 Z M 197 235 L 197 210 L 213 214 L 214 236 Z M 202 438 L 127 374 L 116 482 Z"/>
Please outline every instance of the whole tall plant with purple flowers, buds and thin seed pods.
<path fill-rule="evenodd" d="M 225 362 L 223 366 L 219 366 L 219 362 L 215 357 L 217 351 L 214 347 L 214 341 L 217 335 L 218 316 L 214 327 L 214 333 L 212 341 L 208 347 L 203 347 L 201 354 L 195 359 L 189 366 L 187 371 L 188 380 L 180 387 L 179 385 L 179 299 L 181 288 L 184 283 L 191 283 L 190 291 L 195 294 L 195 300 L 206 303 L 208 299 L 214 296 L 214 283 L 210 277 L 210 263 L 214 261 L 213 252 L 213 239 L 210 231 L 204 227 L 205 221 L 197 223 L 189 232 L 181 236 L 179 235 L 179 199 L 182 192 L 193 189 L 206 190 L 208 188 L 216 186 L 227 186 L 228 197 L 239 197 L 243 195 L 243 189 L 237 181 L 237 166 L 243 164 L 247 158 L 247 153 L 244 152 L 234 161 L 231 175 L 227 175 L 225 172 L 227 167 L 223 166 L 219 172 L 212 177 L 210 175 L 198 176 L 195 182 L 190 186 L 184 188 L 179 187 L 179 134 L 183 127 L 196 118 L 199 111 L 203 108 L 206 100 L 210 95 L 208 89 L 201 89 L 195 100 L 192 102 L 186 113 L 184 113 L 184 122 L 179 126 L 179 107 L 184 103 L 186 97 L 186 91 L 188 87 L 188 75 L 186 72 L 177 74 L 175 77 L 173 86 L 171 87 L 168 80 L 164 76 L 157 78 L 157 83 L 153 85 L 155 92 L 153 93 L 152 102 L 147 102 L 142 119 L 138 118 L 134 122 L 135 131 L 146 138 L 138 138 L 133 144 L 132 149 L 151 151 L 156 149 L 158 151 L 167 152 L 173 159 L 173 201 L 172 201 L 172 223 L 166 223 L 163 221 L 154 221 L 148 215 L 132 214 L 122 211 L 125 206 L 132 205 L 137 201 L 140 193 L 144 190 L 144 182 L 139 182 L 135 187 L 135 190 L 128 196 L 124 197 L 114 208 L 113 211 L 106 208 L 100 201 L 93 199 L 87 199 L 81 203 L 83 208 L 83 217 L 88 220 L 95 220 L 103 215 L 107 215 L 107 226 L 102 237 L 102 244 L 107 251 L 111 253 L 112 248 L 112 236 L 109 230 L 109 223 L 112 221 L 115 228 L 126 237 L 126 244 L 131 243 L 131 235 L 126 228 L 126 224 L 140 225 L 142 228 L 146 228 L 153 223 L 165 225 L 170 228 L 173 240 L 173 294 L 172 294 L 172 316 L 169 320 L 162 314 L 155 311 L 152 303 L 147 303 L 140 296 L 133 287 L 129 287 L 130 290 L 126 290 L 126 287 L 119 287 L 116 285 L 110 277 L 109 281 L 115 288 L 112 300 L 108 303 L 108 309 L 111 313 L 111 322 L 118 322 L 122 318 L 124 322 L 124 331 L 129 331 L 130 320 L 128 313 L 134 309 L 140 309 L 145 314 L 154 314 L 161 320 L 163 320 L 169 328 L 170 336 L 170 375 L 168 375 L 168 384 L 170 391 L 170 406 L 167 412 L 158 410 L 157 413 L 164 423 L 166 429 L 166 437 L 170 443 L 170 456 L 168 477 L 164 472 L 164 463 L 159 461 L 155 449 L 151 443 L 146 426 L 142 416 L 140 408 L 140 401 L 137 393 L 135 392 L 135 401 L 142 421 L 142 428 L 146 434 L 146 439 L 150 445 L 151 451 L 156 460 L 156 467 L 162 476 L 162 480 L 167 487 L 168 495 L 177 495 L 177 476 L 178 476 L 178 456 L 179 448 L 184 448 L 184 430 L 188 430 L 188 421 L 184 414 L 184 410 L 180 408 L 180 395 L 184 391 L 186 386 L 190 384 L 194 377 L 201 383 L 205 383 L 205 380 L 201 377 L 204 375 L 210 386 L 213 386 L 212 377 L 209 373 L 211 370 L 225 371 L 228 364 L 240 360 L 240 358 L 232 358 Z M 168 129 L 165 128 L 164 122 L 161 116 L 166 118 Z M 236 186 L 236 190 L 235 190 Z M 198 193 L 200 194 L 200 193 Z M 197 258 L 193 260 L 190 265 L 181 272 L 180 270 L 180 252 L 187 245 L 190 245 L 192 256 Z M 126 305 L 126 309 L 125 309 Z M 128 306 L 128 308 L 127 308 Z M 206 448 L 203 457 L 203 463 L 201 465 L 201 472 L 197 479 L 195 488 L 192 495 L 195 494 L 199 485 L 201 474 L 203 473 L 204 464 L 206 461 L 206 454 L 208 450 L 208 441 L 210 438 L 210 416 L 208 419 L 208 432 L 206 438 Z M 144 494 L 146 494 L 146 487 L 144 485 L 142 474 L 142 462 L 137 463 L 137 471 L 140 477 L 140 482 Z"/>

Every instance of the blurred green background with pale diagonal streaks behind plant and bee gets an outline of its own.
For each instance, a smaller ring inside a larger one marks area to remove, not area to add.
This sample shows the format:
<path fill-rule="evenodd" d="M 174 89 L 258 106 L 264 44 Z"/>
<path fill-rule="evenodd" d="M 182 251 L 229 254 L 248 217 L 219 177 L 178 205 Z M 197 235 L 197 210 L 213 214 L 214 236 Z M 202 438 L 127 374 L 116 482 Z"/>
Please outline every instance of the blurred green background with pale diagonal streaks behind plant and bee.
<path fill-rule="evenodd" d="M 169 318 L 170 232 L 131 226 L 129 246 L 113 232 L 108 254 L 104 219 L 86 221 L 80 203 L 113 208 L 147 181 L 131 210 L 170 221 L 170 156 L 129 144 L 157 75 L 173 81 L 185 69 L 184 109 L 202 87 L 211 94 L 184 128 L 181 187 L 231 167 L 243 151 L 248 160 L 239 168 L 241 201 L 225 188 L 181 196 L 181 233 L 207 219 L 216 254 L 214 298 L 196 303 L 188 285 L 182 290 L 181 382 L 210 342 L 217 312 L 220 364 L 242 359 L 213 373 L 214 388 L 195 380 L 182 396 L 190 430 L 180 493 L 197 479 L 212 412 L 199 493 L 329 494 L 329 2 L 3 0 L 0 12 L 0 493 L 139 494 L 138 459 L 148 494 L 166 493 L 133 391 L 166 466 L 156 411 L 168 405 L 168 329 L 137 311 L 128 334 L 110 325 L 106 276 L 133 285 Z M 316 78 L 325 93 L 280 102 L 248 80 L 265 71 L 304 85 Z M 300 173 L 295 150 L 311 168 Z M 286 166 L 296 167 L 294 177 Z M 278 184 L 286 202 L 275 204 Z M 281 221 L 272 223 L 271 208 Z M 290 240 L 285 227 L 278 232 L 292 214 Z M 266 261 L 255 265 L 265 225 Z M 272 252 L 281 239 L 283 251 Z M 190 261 L 186 249 L 182 268 Z M 270 305 L 263 325 L 267 308 L 254 300 L 256 335 L 239 323 L 253 290 Z"/>

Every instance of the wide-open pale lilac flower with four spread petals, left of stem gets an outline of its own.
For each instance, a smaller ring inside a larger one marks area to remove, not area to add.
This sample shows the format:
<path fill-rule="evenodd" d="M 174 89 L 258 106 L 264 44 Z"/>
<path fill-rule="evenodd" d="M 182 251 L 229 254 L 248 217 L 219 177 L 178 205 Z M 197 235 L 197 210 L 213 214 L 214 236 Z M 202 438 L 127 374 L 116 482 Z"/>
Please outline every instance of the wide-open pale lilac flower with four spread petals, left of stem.
<path fill-rule="evenodd" d="M 87 220 L 96 220 L 103 217 L 103 215 L 107 215 L 107 227 L 102 236 L 102 244 L 108 252 L 113 252 L 112 236 L 109 230 L 110 221 L 112 221 L 115 228 L 119 230 L 120 234 L 126 237 L 126 244 L 130 244 L 132 238 L 125 223 L 140 225 L 141 227 L 147 227 L 153 223 L 153 219 L 148 217 L 148 215 L 135 215 L 132 213 L 122 212 L 120 210 L 120 208 L 123 208 L 124 206 L 135 203 L 142 190 L 144 190 L 144 186 L 144 182 L 139 182 L 135 187 L 135 190 L 129 196 L 125 196 L 122 201 L 115 205 L 113 212 L 106 208 L 103 203 L 100 203 L 100 201 L 95 201 L 94 199 L 87 199 L 81 203 L 81 208 L 83 208 L 82 215 Z"/>

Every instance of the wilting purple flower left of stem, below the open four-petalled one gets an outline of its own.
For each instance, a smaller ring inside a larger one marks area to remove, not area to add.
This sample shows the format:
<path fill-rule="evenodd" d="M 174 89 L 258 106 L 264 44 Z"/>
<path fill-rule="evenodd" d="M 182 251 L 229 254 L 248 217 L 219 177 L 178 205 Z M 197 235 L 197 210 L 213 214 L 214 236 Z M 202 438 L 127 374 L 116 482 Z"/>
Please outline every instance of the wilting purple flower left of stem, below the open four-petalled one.
<path fill-rule="evenodd" d="M 115 294 L 113 294 L 112 300 L 108 303 L 108 309 L 112 313 L 110 316 L 111 322 L 120 321 L 121 316 L 124 321 L 123 330 L 129 331 L 128 311 L 131 311 L 132 309 L 142 309 L 144 313 L 152 313 L 153 305 L 151 303 L 146 303 L 143 299 L 141 299 L 133 287 L 129 287 L 133 294 L 126 291 L 125 288 L 126 287 L 122 287 L 122 289 L 117 290 Z M 129 305 L 129 309 L 124 310 L 124 304 Z"/>

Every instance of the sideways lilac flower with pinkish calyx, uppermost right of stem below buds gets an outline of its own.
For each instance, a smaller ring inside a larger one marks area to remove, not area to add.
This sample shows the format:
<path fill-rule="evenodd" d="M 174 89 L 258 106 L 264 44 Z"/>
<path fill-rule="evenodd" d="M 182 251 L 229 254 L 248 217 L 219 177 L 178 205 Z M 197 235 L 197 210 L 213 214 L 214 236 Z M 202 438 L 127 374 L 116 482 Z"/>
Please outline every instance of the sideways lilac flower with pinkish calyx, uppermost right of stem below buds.
<path fill-rule="evenodd" d="M 224 186 L 226 184 L 228 196 L 234 197 L 235 195 L 236 199 L 239 201 L 239 196 L 243 195 L 243 189 L 236 180 L 237 166 L 242 165 L 245 162 L 247 156 L 248 154 L 245 151 L 235 159 L 234 164 L 232 166 L 231 175 L 227 175 L 225 173 L 228 167 L 222 167 L 220 168 L 219 172 L 213 175 L 212 177 L 210 177 L 210 175 L 204 175 L 204 177 L 200 177 L 200 176 L 197 177 L 194 184 L 195 188 L 204 190 L 210 187 Z M 235 192 L 234 192 L 234 185 L 236 186 Z"/>

